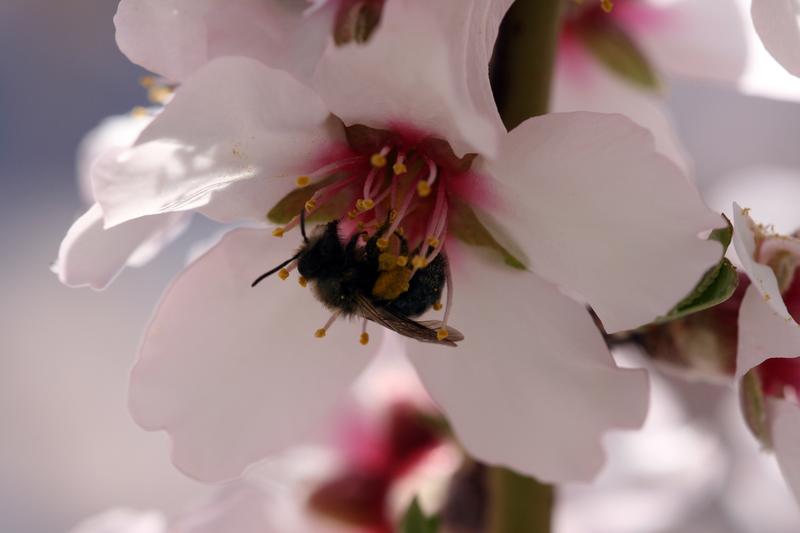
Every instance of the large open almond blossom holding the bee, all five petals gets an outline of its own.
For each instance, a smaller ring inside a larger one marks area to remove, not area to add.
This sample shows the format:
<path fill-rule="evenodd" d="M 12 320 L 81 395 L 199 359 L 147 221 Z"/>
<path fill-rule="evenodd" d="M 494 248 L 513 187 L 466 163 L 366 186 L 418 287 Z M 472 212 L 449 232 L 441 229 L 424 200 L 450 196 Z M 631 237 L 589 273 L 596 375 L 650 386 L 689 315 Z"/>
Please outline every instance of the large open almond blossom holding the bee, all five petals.
<path fill-rule="evenodd" d="M 602 435 L 641 424 L 645 376 L 615 366 L 584 303 L 609 331 L 666 314 L 719 261 L 700 234 L 721 220 L 623 117 L 554 114 L 506 133 L 487 76 L 501 17 L 477 1 L 389 1 L 368 46 L 323 54 L 314 90 L 251 58 L 214 59 L 131 149 L 94 166 L 107 227 L 285 217 L 195 261 L 145 334 L 131 409 L 170 434 L 184 472 L 230 478 L 293 443 L 376 353 L 382 328 L 338 324 L 352 309 L 302 288 L 323 294 L 293 250 L 324 232 L 336 254 L 380 252 L 375 305 L 428 287 L 423 305 L 392 311 L 414 318 L 441 298 L 419 325 L 432 342 L 403 350 L 474 456 L 588 479 Z M 300 286 L 251 287 L 276 266 Z"/>

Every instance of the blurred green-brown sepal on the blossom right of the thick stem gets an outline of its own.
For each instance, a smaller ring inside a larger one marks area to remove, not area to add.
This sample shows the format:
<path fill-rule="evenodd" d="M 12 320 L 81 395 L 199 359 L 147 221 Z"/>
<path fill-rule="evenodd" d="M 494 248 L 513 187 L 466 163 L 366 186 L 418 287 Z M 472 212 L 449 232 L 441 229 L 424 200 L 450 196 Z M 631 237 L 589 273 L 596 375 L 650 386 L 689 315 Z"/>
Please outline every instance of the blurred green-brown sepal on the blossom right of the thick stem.
<path fill-rule="evenodd" d="M 611 21 L 580 32 L 586 48 L 615 74 L 644 89 L 658 90 L 660 83 L 650 61 L 627 32 Z"/>

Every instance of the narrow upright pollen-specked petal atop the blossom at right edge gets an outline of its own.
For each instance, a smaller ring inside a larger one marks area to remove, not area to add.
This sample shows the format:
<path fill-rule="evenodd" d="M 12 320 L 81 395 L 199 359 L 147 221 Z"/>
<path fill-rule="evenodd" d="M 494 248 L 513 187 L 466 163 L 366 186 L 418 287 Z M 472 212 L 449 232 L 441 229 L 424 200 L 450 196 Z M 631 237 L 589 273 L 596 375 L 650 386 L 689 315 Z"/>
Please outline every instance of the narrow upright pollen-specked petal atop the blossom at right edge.
<path fill-rule="evenodd" d="M 786 309 L 786 304 L 783 303 L 775 273 L 768 265 L 761 264 L 758 261 L 754 233 L 755 222 L 747 214 L 747 211 L 736 203 L 733 204 L 733 228 L 733 246 L 736 250 L 736 255 L 747 277 L 750 278 L 753 286 L 760 294 L 761 299 L 772 308 L 773 313 L 780 317 L 781 320 L 793 321 L 789 311 Z M 748 289 L 748 292 L 752 291 Z M 745 372 L 747 370 L 744 369 Z"/>

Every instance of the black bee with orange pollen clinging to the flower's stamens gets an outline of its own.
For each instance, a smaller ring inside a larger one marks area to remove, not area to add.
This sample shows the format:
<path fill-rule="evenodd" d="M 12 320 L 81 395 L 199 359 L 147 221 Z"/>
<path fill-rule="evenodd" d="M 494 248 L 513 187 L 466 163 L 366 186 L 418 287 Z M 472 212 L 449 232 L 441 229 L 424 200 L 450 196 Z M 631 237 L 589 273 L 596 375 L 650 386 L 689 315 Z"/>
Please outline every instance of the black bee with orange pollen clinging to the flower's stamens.
<path fill-rule="evenodd" d="M 297 253 L 259 276 L 252 287 L 296 261 L 298 273 L 334 316 L 362 317 L 422 342 L 456 346 L 464 339 L 450 326 L 443 338 L 440 321 L 412 320 L 441 299 L 448 275 L 443 253 L 413 272 L 410 265 L 386 264 L 378 243 L 381 231 L 376 231 L 364 245 L 360 242 L 367 234 L 356 232 L 345 244 L 339 237 L 339 221 L 334 220 L 315 227 L 309 238 L 304 211 L 300 230 L 303 245 Z M 407 257 L 407 241 L 397 233 L 395 237 L 400 240 L 401 255 Z"/>

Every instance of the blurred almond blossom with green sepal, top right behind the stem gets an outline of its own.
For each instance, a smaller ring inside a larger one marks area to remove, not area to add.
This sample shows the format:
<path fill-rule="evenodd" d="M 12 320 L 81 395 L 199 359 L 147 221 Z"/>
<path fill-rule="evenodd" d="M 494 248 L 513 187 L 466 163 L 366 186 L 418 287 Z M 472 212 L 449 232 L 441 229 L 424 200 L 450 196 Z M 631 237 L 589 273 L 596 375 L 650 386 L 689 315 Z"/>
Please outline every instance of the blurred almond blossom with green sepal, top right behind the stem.
<path fill-rule="evenodd" d="M 756 1 L 753 14 L 764 11 L 760 6 L 790 4 Z M 664 109 L 665 81 L 691 78 L 755 96 L 800 99 L 800 80 L 766 53 L 749 7 L 749 0 L 570 1 L 553 109 L 622 113 L 650 129 L 659 150 L 688 168 L 685 148 Z"/>

